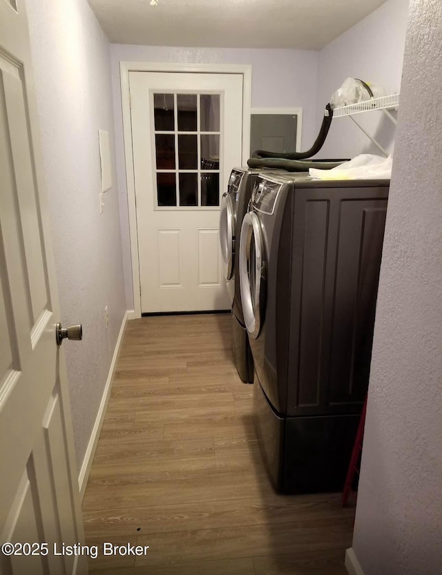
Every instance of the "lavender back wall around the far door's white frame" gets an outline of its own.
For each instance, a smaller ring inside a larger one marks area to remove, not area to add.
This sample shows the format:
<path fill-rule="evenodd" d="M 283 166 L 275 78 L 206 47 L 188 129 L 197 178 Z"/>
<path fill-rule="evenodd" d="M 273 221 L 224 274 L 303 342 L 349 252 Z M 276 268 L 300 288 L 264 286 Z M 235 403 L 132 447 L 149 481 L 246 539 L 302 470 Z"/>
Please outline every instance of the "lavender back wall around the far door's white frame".
<path fill-rule="evenodd" d="M 133 305 L 129 242 L 126 168 L 124 164 L 119 62 L 185 62 L 192 64 L 251 64 L 251 104 L 256 108 L 301 107 L 302 146 L 316 137 L 316 80 L 318 53 L 308 50 L 258 50 L 240 48 L 164 48 L 111 45 L 115 151 L 117 153 L 120 218 L 124 254 L 126 301 Z M 276 86 L 276 89 L 273 88 Z"/>

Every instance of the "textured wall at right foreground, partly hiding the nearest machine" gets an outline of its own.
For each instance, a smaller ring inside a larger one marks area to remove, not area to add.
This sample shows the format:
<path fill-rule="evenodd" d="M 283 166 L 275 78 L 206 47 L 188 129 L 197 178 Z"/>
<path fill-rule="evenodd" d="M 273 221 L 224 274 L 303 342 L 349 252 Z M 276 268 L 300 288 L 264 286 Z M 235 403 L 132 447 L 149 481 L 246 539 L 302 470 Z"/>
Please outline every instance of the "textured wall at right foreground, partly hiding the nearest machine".
<path fill-rule="evenodd" d="M 354 529 L 365 575 L 442 569 L 441 70 L 442 3 L 412 0 Z"/>

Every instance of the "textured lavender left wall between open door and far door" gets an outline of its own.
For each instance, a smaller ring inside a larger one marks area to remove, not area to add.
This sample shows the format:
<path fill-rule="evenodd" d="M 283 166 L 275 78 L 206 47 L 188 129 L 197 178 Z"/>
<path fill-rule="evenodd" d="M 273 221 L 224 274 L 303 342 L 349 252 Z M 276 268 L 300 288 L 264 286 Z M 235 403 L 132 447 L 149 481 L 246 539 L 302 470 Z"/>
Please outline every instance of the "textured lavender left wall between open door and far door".
<path fill-rule="evenodd" d="M 109 44 L 86 0 L 27 8 L 61 317 L 84 328 L 81 343 L 64 343 L 81 466 L 126 310 L 115 171 L 99 215 L 98 129 L 113 142 Z"/>

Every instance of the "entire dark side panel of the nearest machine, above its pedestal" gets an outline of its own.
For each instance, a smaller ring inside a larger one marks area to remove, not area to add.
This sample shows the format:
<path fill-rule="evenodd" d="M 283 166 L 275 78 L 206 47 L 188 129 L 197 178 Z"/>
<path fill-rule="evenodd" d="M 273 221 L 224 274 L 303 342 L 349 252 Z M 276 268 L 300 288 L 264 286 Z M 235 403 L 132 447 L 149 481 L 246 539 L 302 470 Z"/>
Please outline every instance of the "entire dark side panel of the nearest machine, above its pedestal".
<path fill-rule="evenodd" d="M 369 380 L 388 187 L 296 196 L 288 415 L 358 413 Z"/>

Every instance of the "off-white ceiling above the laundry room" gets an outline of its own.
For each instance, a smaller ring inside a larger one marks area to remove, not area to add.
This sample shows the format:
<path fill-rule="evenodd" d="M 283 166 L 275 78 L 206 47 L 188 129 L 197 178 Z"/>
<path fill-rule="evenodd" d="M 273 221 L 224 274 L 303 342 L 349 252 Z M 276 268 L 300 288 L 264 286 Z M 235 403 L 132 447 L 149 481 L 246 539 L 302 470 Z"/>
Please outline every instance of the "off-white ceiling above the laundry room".
<path fill-rule="evenodd" d="M 385 0 L 89 0 L 111 42 L 319 50 Z"/>

